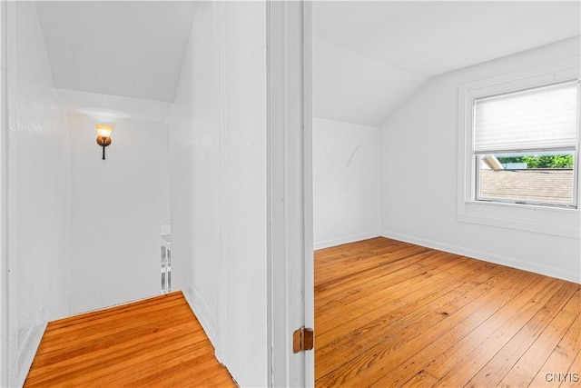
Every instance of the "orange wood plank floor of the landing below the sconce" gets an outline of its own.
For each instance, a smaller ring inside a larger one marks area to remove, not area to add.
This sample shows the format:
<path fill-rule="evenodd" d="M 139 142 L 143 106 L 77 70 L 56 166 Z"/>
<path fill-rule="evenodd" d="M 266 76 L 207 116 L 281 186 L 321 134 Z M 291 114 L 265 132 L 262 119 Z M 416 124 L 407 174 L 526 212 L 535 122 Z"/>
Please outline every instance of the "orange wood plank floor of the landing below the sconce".
<path fill-rule="evenodd" d="M 235 387 L 181 292 L 48 323 L 25 387 Z"/>

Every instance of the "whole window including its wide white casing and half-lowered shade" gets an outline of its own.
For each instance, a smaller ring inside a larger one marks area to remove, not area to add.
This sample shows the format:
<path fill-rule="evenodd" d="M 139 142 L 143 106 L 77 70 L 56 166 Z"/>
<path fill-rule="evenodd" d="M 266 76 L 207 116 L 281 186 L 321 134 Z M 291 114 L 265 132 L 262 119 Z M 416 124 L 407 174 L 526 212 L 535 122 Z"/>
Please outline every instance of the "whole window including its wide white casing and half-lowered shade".
<path fill-rule="evenodd" d="M 579 58 L 459 85 L 458 221 L 579 238 Z"/>

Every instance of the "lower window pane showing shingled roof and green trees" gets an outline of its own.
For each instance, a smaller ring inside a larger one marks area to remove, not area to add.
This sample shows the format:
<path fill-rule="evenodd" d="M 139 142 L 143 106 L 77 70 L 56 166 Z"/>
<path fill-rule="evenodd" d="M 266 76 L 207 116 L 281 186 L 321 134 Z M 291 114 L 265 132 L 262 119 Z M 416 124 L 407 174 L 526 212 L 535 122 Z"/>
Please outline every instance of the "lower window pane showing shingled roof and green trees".
<path fill-rule="evenodd" d="M 574 205 L 574 153 L 477 156 L 478 200 Z"/>

